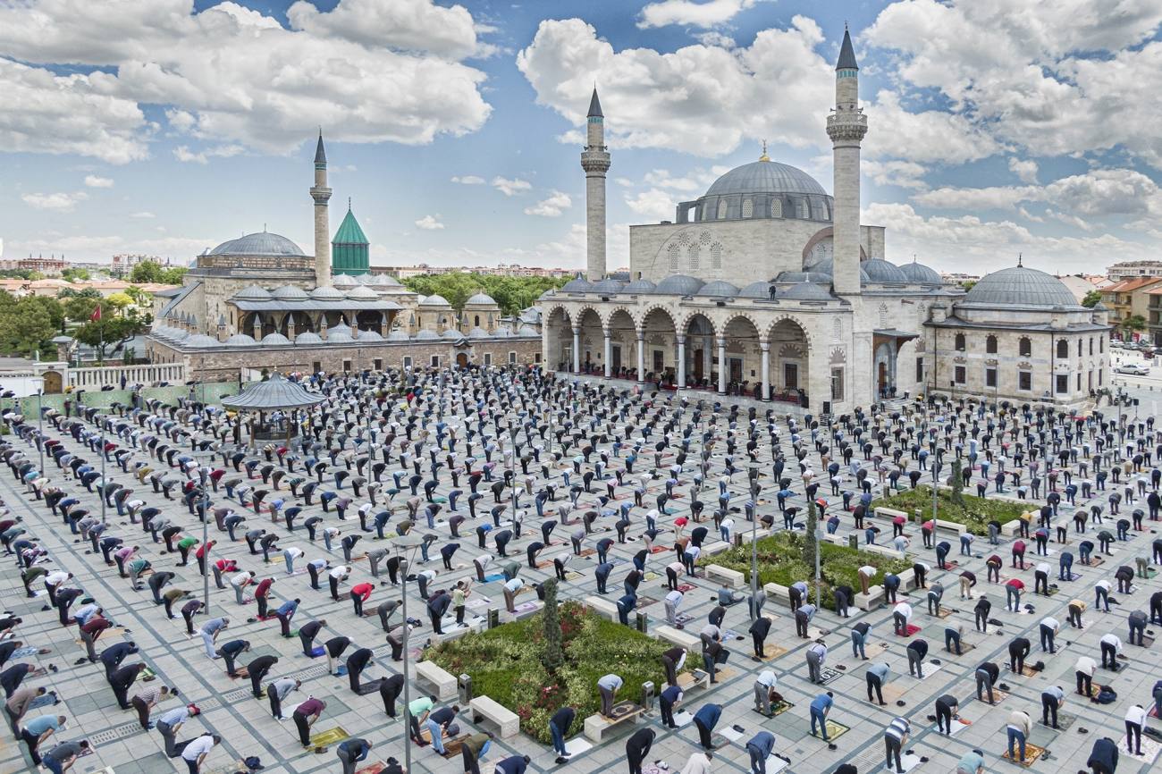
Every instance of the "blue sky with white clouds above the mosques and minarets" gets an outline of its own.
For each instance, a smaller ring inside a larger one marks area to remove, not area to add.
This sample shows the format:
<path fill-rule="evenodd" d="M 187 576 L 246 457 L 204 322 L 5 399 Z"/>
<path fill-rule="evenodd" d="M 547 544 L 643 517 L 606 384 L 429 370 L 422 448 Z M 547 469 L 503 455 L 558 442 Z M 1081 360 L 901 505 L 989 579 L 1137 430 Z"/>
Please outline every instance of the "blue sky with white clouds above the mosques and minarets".
<path fill-rule="evenodd" d="M 376 264 L 583 265 L 596 83 L 627 225 L 776 160 L 831 188 L 855 36 L 865 222 L 888 258 L 983 272 L 1153 258 L 1162 0 L 0 0 L 5 257 L 188 260 L 268 228 L 311 244 L 314 132 Z"/>

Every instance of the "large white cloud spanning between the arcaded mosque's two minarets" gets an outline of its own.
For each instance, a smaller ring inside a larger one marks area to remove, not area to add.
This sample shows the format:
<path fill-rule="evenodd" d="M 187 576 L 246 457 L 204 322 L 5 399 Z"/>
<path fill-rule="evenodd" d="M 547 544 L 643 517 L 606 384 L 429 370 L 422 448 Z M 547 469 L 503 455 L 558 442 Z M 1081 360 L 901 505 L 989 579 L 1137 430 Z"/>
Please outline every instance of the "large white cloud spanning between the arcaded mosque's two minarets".
<path fill-rule="evenodd" d="M 834 70 L 816 48 L 818 24 L 795 16 L 766 29 L 748 48 L 686 45 L 672 53 L 615 51 L 580 19 L 546 20 L 517 67 L 537 101 L 574 126 L 584 123 L 594 80 L 614 148 L 665 148 L 703 157 L 729 153 L 763 137 L 794 148 L 829 148 L 823 129 Z M 885 128 L 887 131 L 887 128 Z M 579 135 L 562 138 L 576 142 Z"/>

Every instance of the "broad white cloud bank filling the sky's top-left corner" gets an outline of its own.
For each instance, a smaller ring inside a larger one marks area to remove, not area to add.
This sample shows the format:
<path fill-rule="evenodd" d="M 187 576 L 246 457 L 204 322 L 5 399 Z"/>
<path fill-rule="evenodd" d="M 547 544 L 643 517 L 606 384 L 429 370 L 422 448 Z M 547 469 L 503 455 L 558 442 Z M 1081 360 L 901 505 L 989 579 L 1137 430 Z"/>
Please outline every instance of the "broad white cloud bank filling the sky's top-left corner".
<path fill-rule="evenodd" d="M 165 108 L 173 131 L 267 152 L 299 148 L 314 122 L 332 139 L 423 144 L 488 119 L 486 76 L 460 62 L 478 48 L 462 7 L 340 0 L 328 13 L 292 9 L 287 29 L 230 1 L 199 12 L 191 0 L 121 0 L 116 13 L 87 0 L 0 5 L 5 56 L 91 71 L 56 76 L 0 59 L 0 142 L 144 158 L 146 103 Z"/>

